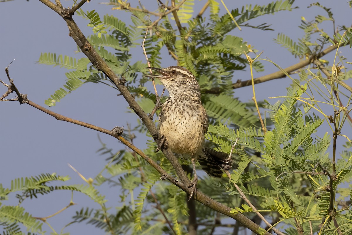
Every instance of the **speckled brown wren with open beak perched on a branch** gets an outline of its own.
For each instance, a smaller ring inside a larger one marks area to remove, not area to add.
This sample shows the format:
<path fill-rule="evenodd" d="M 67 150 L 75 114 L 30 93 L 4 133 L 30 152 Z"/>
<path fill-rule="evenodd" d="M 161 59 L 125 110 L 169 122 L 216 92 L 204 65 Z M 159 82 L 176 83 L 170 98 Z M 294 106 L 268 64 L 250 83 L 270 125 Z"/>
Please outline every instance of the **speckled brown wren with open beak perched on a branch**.
<path fill-rule="evenodd" d="M 192 188 L 189 200 L 196 191 L 198 177 L 195 162 L 198 160 L 203 170 L 214 177 L 222 176 L 221 168 L 229 169 L 228 154 L 205 147 L 208 132 L 208 116 L 201 101 L 197 79 L 186 68 L 147 67 L 157 74 L 144 77 L 159 78 L 169 92 L 169 98 L 161 106 L 159 114 L 159 137 L 157 148 L 170 148 L 172 152 L 190 157 L 194 178 L 188 186 Z"/>

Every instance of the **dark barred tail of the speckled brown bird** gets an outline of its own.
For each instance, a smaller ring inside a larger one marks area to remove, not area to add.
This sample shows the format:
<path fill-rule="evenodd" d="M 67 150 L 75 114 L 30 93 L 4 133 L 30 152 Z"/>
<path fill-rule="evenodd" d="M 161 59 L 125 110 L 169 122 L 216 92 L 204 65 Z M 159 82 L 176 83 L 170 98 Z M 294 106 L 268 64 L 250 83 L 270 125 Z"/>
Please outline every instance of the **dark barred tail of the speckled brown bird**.
<path fill-rule="evenodd" d="M 210 148 L 203 148 L 198 156 L 199 164 L 208 175 L 220 178 L 223 169 L 230 169 L 232 160 L 228 159 L 227 153 L 215 151 Z"/>

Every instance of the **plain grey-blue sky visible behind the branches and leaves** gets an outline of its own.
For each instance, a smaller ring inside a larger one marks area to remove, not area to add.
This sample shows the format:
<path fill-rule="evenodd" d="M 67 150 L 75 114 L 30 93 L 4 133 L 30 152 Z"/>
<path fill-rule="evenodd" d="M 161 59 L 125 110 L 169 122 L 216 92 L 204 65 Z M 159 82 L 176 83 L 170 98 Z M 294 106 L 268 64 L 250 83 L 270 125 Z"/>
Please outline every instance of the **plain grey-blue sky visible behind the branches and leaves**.
<path fill-rule="evenodd" d="M 103 16 L 113 14 L 121 20 L 130 22 L 128 14 L 117 10 L 111 10 L 111 6 L 99 4 L 103 1 L 92 0 L 83 5 L 84 11 L 96 9 Z M 148 6 L 146 0 L 142 4 Z M 195 12 L 198 12 L 205 1 L 195 1 Z M 225 0 L 227 7 L 232 9 L 240 7 L 240 1 Z M 271 1 L 241 1 L 245 4 L 265 5 Z M 280 32 L 285 33 L 291 38 L 299 38 L 303 32 L 298 28 L 301 17 L 312 20 L 316 14 L 326 15 L 319 7 L 307 8 L 310 3 L 315 1 L 298 0 L 294 6 L 299 6 L 291 12 L 279 12 L 275 15 L 259 17 L 251 21 L 252 24 L 267 22 L 275 31 L 260 31 L 243 27 L 242 31 L 235 30 L 233 33 L 238 37 L 244 38 L 248 44 L 253 45 L 259 51 L 264 50 L 261 58 L 270 58 L 272 61 L 285 68 L 298 62 L 286 49 L 273 41 Z M 352 14 L 347 1 L 320 1 L 320 4 L 332 8 L 336 25 L 349 25 Z M 72 1 L 62 1 L 66 7 Z M 138 1 L 131 1 L 134 6 Z M 224 7 L 221 12 L 225 13 Z M 147 7 L 148 8 L 148 7 Z M 155 10 L 152 7 L 149 10 Z M 209 10 L 208 10 L 209 11 Z M 92 34 L 92 29 L 87 27 L 88 22 L 74 15 L 78 26 L 83 33 L 88 36 Z M 21 93 L 28 94 L 28 98 L 42 106 L 44 100 L 48 99 L 56 89 L 62 87 L 65 82 L 66 69 L 59 67 L 38 64 L 41 52 L 55 52 L 57 54 L 74 56 L 81 58 L 82 53 L 75 54 L 77 46 L 72 38 L 68 36 L 67 25 L 64 20 L 54 11 L 36 0 L 21 1 L 14 0 L 0 2 L 0 79 L 7 82 L 5 67 L 16 59 L 11 66 L 10 76 L 14 79 L 15 85 Z M 331 23 L 324 25 L 327 31 L 332 34 L 333 26 Z M 348 58 L 351 56 L 351 49 L 342 50 Z M 142 49 L 136 47 L 132 57 L 140 60 L 143 56 Z M 252 55 L 253 56 L 253 55 Z M 325 60 L 332 60 L 334 53 L 324 57 Z M 163 55 L 162 64 L 164 67 L 175 65 L 167 54 Z M 144 60 L 144 57 L 143 57 Z M 351 61 L 350 61 L 351 62 Z M 254 77 L 263 76 L 277 71 L 277 68 L 268 62 L 262 61 L 265 71 L 254 74 Z M 248 70 L 235 73 L 233 81 L 238 79 L 250 79 Z M 294 75 L 295 76 L 295 75 Z M 296 75 L 297 76 L 297 75 Z M 347 82 L 350 86 L 351 81 Z M 277 79 L 265 84 L 256 85 L 257 99 L 268 99 L 271 96 L 285 95 L 285 87 L 290 84 L 290 80 Z M 161 91 L 161 87 L 159 90 Z M 245 87 L 235 90 L 235 97 L 243 101 L 250 101 L 252 98 L 252 88 Z M 0 86 L 0 93 L 3 94 L 6 87 Z M 114 126 L 127 127 L 127 122 L 132 126 L 136 124 L 137 116 L 127 113 L 127 103 L 122 96 L 117 96 L 115 89 L 105 85 L 86 84 L 77 91 L 68 95 L 55 107 L 50 110 L 62 115 L 112 129 Z M 276 100 L 275 100 L 276 101 Z M 275 102 L 271 101 L 271 102 Z M 57 121 L 55 118 L 46 115 L 29 105 L 19 105 L 18 102 L 0 103 L 0 183 L 4 187 L 10 187 L 11 180 L 18 177 L 29 177 L 40 173 L 53 173 L 59 175 L 70 175 L 70 184 L 81 184 L 82 179 L 68 167 L 72 165 L 86 178 L 95 177 L 105 166 L 104 156 L 96 153 L 101 147 L 96 131 L 83 128 L 70 123 Z M 115 138 L 99 134 L 102 141 L 115 151 L 125 148 Z M 344 142 L 344 140 L 342 141 Z M 342 143 L 341 142 L 341 143 Z M 139 148 L 145 147 L 145 137 L 139 136 L 135 144 Z M 110 188 L 102 186 L 100 191 L 107 195 L 108 205 L 116 206 L 119 190 L 116 187 Z M 23 206 L 33 216 L 48 216 L 63 208 L 69 203 L 70 192 L 54 192 L 49 195 L 40 196 L 40 199 L 25 200 Z M 15 205 L 15 195 L 11 194 L 12 200 L 5 201 L 4 204 Z M 60 231 L 61 228 L 70 222 L 71 216 L 76 210 L 82 207 L 92 206 L 92 202 L 85 196 L 78 193 L 74 196 L 74 202 L 78 203 L 55 218 L 49 220 L 51 225 Z M 94 207 L 94 205 L 92 206 Z M 44 230 L 49 231 L 48 227 Z M 91 225 L 76 224 L 67 228 L 72 234 L 83 234 L 84 232 L 104 234 L 103 231 L 95 229 Z"/>

